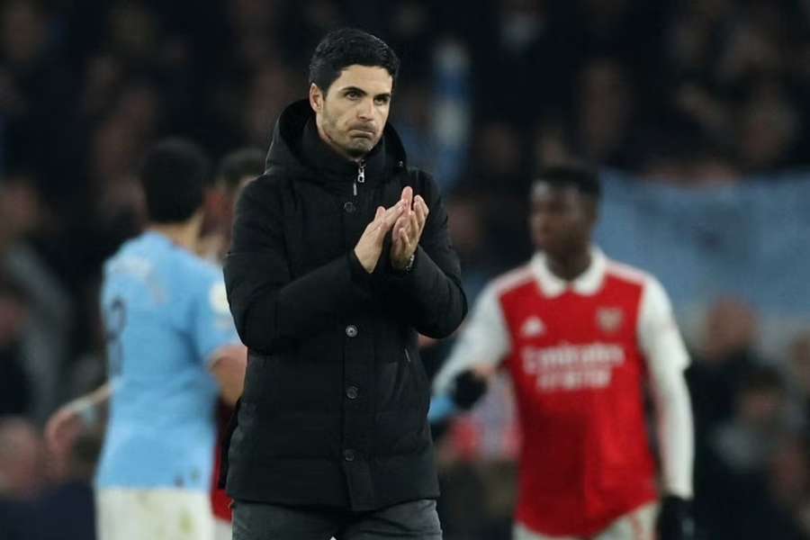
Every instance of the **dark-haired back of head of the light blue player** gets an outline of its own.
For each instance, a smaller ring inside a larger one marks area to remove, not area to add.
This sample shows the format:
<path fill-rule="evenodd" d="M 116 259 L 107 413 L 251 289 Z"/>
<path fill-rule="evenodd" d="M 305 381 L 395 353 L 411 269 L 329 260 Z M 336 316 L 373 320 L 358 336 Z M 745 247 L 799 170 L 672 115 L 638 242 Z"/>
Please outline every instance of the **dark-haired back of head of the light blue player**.
<path fill-rule="evenodd" d="M 165 139 L 150 148 L 140 169 L 148 220 L 180 223 L 202 207 L 211 182 L 202 148 L 185 139 Z"/>

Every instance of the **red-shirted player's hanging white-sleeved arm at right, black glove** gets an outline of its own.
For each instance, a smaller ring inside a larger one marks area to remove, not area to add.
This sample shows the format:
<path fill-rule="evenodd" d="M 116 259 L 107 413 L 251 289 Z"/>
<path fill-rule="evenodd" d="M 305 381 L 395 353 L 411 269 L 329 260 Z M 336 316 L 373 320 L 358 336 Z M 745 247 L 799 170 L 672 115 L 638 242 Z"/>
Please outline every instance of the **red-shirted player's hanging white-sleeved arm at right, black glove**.
<path fill-rule="evenodd" d="M 684 378 L 689 353 L 675 323 L 670 300 L 662 285 L 654 279 L 644 288 L 639 340 L 647 358 L 661 452 L 659 538 L 683 540 L 694 534 L 690 510 L 694 428 L 689 390 Z"/>

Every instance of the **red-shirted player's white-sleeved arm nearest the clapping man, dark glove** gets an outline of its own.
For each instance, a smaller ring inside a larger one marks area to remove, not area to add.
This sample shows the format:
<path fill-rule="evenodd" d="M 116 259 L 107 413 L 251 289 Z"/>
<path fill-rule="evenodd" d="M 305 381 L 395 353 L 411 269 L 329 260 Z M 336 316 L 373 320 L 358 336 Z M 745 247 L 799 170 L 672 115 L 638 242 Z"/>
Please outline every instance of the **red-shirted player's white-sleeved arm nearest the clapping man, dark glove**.
<path fill-rule="evenodd" d="M 433 384 L 428 418 L 440 421 L 457 410 L 469 410 L 487 389 L 510 340 L 495 287 L 487 286 Z"/>

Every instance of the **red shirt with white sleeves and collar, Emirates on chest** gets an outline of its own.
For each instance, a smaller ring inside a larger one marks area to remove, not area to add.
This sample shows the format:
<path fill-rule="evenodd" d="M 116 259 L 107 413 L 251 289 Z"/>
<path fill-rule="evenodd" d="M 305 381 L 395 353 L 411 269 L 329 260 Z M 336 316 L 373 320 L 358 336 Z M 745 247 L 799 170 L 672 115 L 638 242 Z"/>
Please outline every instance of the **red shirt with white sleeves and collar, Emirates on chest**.
<path fill-rule="evenodd" d="M 517 400 L 518 527 L 594 536 L 662 491 L 692 495 L 689 356 L 662 285 L 591 249 L 573 282 L 542 254 L 476 303 L 437 394 L 477 365 L 502 365 Z M 661 448 L 658 483 L 644 414 L 649 383 Z"/>

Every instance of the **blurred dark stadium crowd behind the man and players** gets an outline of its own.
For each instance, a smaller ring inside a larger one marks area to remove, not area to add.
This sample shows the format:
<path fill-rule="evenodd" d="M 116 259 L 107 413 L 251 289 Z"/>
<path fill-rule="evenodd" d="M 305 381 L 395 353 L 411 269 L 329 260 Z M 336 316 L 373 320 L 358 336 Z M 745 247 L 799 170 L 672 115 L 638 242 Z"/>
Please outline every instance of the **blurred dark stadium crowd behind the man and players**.
<path fill-rule="evenodd" d="M 61 456 L 41 429 L 104 380 L 100 269 L 143 223 L 144 149 L 171 134 L 214 159 L 266 149 L 344 25 L 401 56 L 392 122 L 444 190 L 471 302 L 531 254 L 537 167 L 602 167 L 599 244 L 659 276 L 693 352 L 699 524 L 810 537 L 810 1 L 0 6 L 0 538 L 20 511 L 48 517 L 26 538 L 93 537 L 103 426 Z M 437 432 L 448 539 L 509 537 L 515 431 L 497 388 Z"/>

